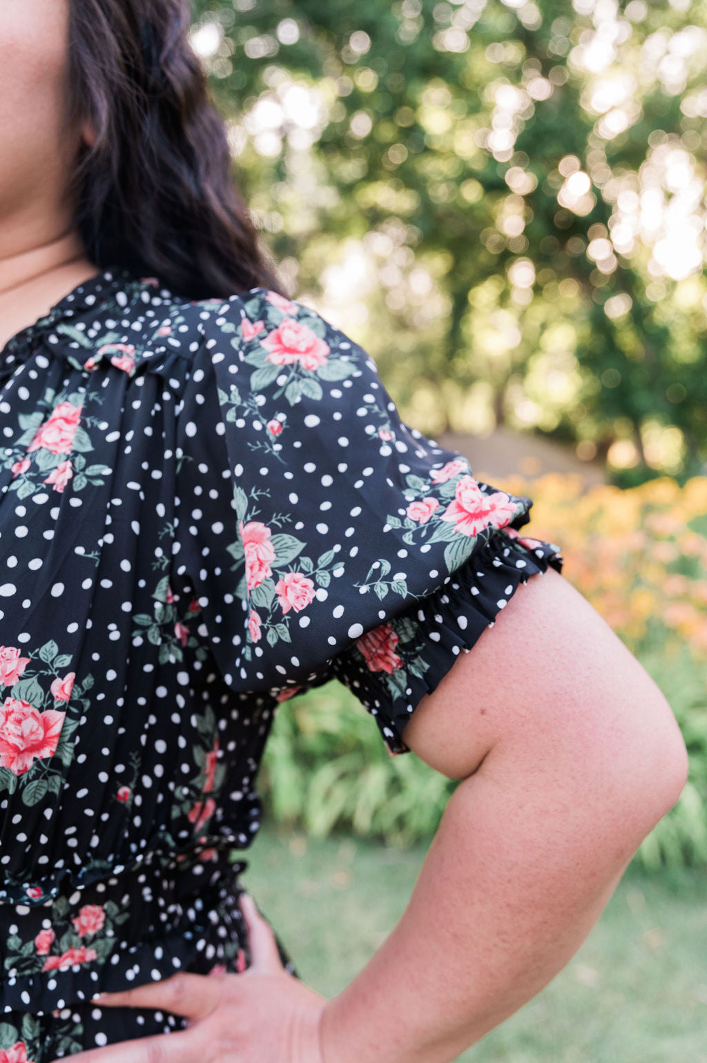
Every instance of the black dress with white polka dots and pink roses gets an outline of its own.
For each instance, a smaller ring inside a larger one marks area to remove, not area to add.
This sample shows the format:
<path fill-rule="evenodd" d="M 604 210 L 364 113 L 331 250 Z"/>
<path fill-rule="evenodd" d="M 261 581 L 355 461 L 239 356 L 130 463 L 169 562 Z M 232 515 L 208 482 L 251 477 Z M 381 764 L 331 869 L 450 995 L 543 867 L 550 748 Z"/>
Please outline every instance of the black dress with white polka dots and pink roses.
<path fill-rule="evenodd" d="M 336 677 L 407 752 L 562 558 L 263 288 L 102 271 L 0 354 L 0 1063 L 41 1063 L 181 1024 L 101 990 L 249 965 L 237 850 L 281 702 Z"/>

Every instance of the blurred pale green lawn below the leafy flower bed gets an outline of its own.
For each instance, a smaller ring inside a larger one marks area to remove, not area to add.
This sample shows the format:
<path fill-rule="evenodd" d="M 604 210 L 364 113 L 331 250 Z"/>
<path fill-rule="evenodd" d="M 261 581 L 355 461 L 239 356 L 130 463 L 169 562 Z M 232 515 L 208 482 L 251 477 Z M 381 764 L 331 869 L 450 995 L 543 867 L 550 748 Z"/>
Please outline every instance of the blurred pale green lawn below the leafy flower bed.
<path fill-rule="evenodd" d="M 392 929 L 425 853 L 266 825 L 243 883 L 300 977 L 331 997 Z M 569 966 L 459 1060 L 707 1063 L 704 868 L 632 866 Z"/>

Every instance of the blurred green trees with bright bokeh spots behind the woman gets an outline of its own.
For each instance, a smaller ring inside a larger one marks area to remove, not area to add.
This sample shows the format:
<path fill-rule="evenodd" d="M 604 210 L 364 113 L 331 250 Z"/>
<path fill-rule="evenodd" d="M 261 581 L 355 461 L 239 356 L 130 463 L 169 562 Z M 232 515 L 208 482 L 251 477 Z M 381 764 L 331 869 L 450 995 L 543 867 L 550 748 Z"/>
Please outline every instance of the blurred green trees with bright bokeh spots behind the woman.
<path fill-rule="evenodd" d="M 193 7 L 291 293 L 406 419 L 705 471 L 707 0 Z"/>

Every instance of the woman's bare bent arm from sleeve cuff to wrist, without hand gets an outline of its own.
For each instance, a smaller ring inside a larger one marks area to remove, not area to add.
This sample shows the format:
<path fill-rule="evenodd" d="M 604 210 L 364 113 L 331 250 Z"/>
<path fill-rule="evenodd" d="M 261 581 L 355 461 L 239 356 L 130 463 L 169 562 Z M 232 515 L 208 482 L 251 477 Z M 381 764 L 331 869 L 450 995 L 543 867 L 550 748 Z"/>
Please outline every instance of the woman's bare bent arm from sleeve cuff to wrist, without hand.
<path fill-rule="evenodd" d="M 400 922 L 321 1019 L 324 1063 L 450 1063 L 577 950 L 687 758 L 666 698 L 554 570 L 405 728 L 461 779 Z"/>

